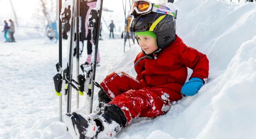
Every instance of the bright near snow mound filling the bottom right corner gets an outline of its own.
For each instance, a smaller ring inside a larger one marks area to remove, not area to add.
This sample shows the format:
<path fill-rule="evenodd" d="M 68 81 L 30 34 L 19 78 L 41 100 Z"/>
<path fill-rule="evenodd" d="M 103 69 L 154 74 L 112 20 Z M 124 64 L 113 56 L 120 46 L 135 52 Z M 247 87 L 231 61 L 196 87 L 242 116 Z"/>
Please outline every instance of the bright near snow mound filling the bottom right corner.
<path fill-rule="evenodd" d="M 256 36 L 241 45 L 219 80 L 213 115 L 198 138 L 255 138 L 255 82 Z"/>

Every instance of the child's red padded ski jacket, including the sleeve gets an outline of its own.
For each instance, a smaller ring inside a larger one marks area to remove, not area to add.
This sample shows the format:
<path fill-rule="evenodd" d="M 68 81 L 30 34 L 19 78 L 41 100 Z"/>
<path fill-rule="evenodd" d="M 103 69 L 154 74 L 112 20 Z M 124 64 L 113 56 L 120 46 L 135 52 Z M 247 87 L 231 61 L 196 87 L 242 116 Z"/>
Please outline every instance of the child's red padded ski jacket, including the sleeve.
<path fill-rule="evenodd" d="M 144 57 L 142 52 L 134 63 L 141 57 Z M 156 59 L 142 59 L 134 66 L 136 79 L 143 87 L 167 88 L 179 94 L 187 78 L 187 67 L 193 70 L 190 78 L 207 80 L 209 61 L 206 55 L 186 46 L 177 35 L 176 40 L 161 50 Z"/>

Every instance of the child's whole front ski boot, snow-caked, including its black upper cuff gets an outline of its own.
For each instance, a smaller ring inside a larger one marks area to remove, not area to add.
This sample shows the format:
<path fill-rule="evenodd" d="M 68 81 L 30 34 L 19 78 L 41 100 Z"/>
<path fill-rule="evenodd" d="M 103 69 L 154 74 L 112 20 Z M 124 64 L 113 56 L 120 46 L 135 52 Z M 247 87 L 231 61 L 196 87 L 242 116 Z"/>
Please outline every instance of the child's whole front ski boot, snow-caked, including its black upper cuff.
<path fill-rule="evenodd" d="M 127 122 L 122 110 L 115 105 L 108 106 L 106 111 L 94 120 L 73 112 L 67 113 L 64 121 L 72 137 L 79 139 L 114 138 Z"/>

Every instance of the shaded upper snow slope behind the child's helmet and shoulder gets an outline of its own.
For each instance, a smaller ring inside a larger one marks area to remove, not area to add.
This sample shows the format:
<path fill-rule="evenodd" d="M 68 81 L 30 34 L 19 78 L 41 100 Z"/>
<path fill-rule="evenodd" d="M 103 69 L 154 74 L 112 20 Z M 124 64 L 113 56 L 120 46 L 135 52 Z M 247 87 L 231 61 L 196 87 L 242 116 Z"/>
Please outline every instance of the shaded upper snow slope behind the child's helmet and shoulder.
<path fill-rule="evenodd" d="M 227 67 L 241 44 L 256 34 L 256 3 L 238 5 L 217 0 L 175 2 L 180 10 L 177 34 L 184 42 L 205 53 L 210 67 Z"/>

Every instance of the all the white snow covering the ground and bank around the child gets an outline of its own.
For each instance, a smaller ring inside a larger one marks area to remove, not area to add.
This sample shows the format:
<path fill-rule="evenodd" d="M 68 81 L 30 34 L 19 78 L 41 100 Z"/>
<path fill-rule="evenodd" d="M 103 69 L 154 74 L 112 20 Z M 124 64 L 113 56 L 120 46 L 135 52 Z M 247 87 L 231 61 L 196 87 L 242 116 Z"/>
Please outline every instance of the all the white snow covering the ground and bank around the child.
<path fill-rule="evenodd" d="M 107 8 L 115 10 L 109 6 L 110 0 L 104 2 Z M 176 0 L 174 4 L 178 9 L 177 35 L 209 59 L 207 83 L 198 94 L 173 103 L 163 116 L 133 119 L 116 138 L 256 138 L 256 2 Z M 102 13 L 106 18 L 110 14 Z M 115 16 L 119 17 L 124 19 L 124 14 Z M 96 81 L 101 82 L 114 71 L 136 77 L 133 61 L 141 51 L 138 44 L 129 48 L 126 42 L 123 53 L 124 40 L 109 40 L 106 27 L 103 30 L 104 40 L 99 41 L 101 66 L 97 67 Z M 15 36 L 16 43 L 0 43 L 0 138 L 72 138 L 66 132 L 65 123 L 59 121 L 59 98 L 52 79 L 57 73 L 58 44 L 47 40 L 42 30 L 20 27 Z M 4 42 L 3 35 L 0 41 Z M 63 40 L 63 65 L 68 59 L 66 44 Z M 85 62 L 86 54 L 85 47 L 80 64 Z M 73 77 L 75 67 L 74 60 Z M 189 70 L 188 78 L 191 73 Z M 93 109 L 98 104 L 97 91 L 96 87 Z M 71 111 L 85 114 L 87 98 L 80 96 L 77 109 L 76 93 L 73 89 Z M 66 97 L 62 108 L 64 116 Z"/>

